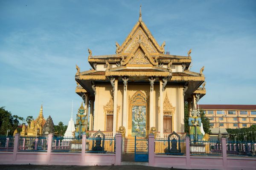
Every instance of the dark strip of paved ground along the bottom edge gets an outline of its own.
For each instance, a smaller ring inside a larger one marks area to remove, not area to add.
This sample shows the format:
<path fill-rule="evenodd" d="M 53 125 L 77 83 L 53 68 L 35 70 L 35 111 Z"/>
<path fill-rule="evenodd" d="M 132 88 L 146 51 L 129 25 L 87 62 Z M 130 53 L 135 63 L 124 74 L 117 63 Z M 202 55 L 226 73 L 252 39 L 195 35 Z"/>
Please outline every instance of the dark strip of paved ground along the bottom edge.
<path fill-rule="evenodd" d="M 120 166 L 63 166 L 63 165 L 0 165 L 1 170 L 181 170 L 175 168 L 148 167 L 142 165 Z"/>

